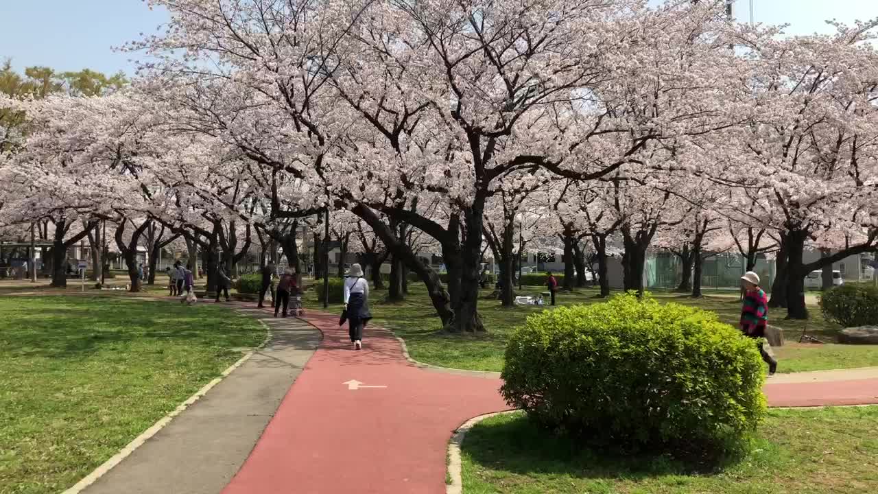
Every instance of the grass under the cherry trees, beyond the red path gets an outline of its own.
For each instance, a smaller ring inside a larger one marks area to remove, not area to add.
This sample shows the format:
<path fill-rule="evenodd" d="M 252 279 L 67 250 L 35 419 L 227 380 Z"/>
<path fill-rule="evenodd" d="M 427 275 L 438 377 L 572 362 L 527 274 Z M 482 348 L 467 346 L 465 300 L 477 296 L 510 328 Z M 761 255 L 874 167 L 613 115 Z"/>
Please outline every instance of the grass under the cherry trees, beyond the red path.
<path fill-rule="evenodd" d="M 541 287 L 524 287 L 524 294 L 538 294 Z M 479 335 L 454 335 L 440 331 L 439 320 L 430 304 L 426 291 L 420 283 L 413 283 L 412 293 L 406 301 L 387 303 L 383 301 L 385 293 L 371 294 L 371 309 L 375 323 L 394 331 L 406 340 L 412 358 L 442 367 L 454 367 L 473 370 L 500 371 L 503 367 L 503 352 L 506 341 L 516 326 L 524 323 L 525 318 L 534 312 L 546 308 L 536 306 L 519 306 L 505 309 L 496 300 L 480 300 L 479 314 L 482 316 L 487 331 Z M 483 294 L 489 294 L 485 291 Z M 574 303 L 595 303 L 602 299 L 595 298 L 597 291 L 582 289 L 572 294 L 558 294 L 559 305 Z M 702 309 L 716 312 L 725 323 L 738 326 L 740 317 L 740 301 L 735 294 L 710 294 L 701 299 L 692 299 L 686 295 L 674 293 L 653 294 L 660 301 L 675 301 L 694 305 Z M 308 295 L 307 305 L 320 307 L 314 293 Z M 330 310 L 341 310 L 333 306 Z M 808 333 L 824 341 L 835 341 L 838 327 L 824 321 L 817 306 L 810 307 L 811 319 L 808 321 Z M 788 345 L 776 350 L 781 360 L 778 372 L 801 372 L 825 370 L 832 368 L 853 368 L 878 366 L 878 345 L 816 345 L 798 344 L 802 334 L 802 321 L 785 321 L 786 309 L 773 309 L 769 313 L 770 323 L 781 327 L 787 338 Z"/>

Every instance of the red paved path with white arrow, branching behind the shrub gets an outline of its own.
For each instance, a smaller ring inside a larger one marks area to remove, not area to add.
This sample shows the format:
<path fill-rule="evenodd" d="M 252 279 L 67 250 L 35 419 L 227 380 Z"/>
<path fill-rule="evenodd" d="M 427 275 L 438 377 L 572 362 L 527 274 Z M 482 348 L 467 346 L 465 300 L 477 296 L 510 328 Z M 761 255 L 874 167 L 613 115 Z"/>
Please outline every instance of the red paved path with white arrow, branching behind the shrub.
<path fill-rule="evenodd" d="M 507 410 L 500 380 L 414 367 L 382 330 L 367 328 L 356 352 L 337 316 L 307 320 L 324 332 L 320 349 L 223 493 L 442 494 L 452 432 Z M 770 406 L 878 403 L 878 379 L 769 382 L 765 393 Z"/>

